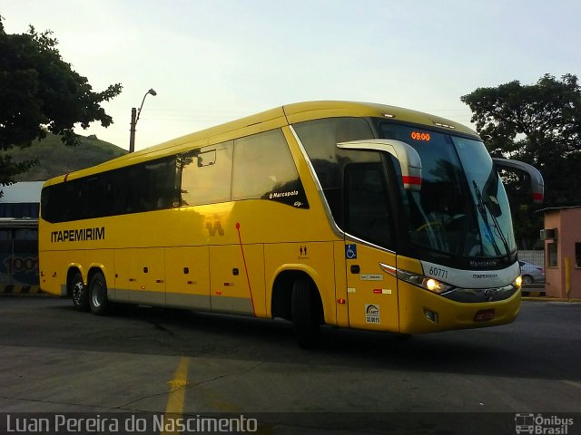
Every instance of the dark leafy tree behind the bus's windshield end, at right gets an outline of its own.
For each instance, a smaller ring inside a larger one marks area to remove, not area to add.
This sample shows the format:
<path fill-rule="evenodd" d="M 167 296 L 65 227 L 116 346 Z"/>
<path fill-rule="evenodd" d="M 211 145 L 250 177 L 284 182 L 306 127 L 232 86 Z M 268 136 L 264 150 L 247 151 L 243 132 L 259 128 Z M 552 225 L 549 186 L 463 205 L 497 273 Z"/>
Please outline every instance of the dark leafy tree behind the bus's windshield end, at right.
<path fill-rule="evenodd" d="M 545 179 L 545 204 L 581 204 L 581 88 L 576 75 L 557 80 L 550 74 L 537 83 L 518 81 L 478 88 L 460 98 L 472 111 L 478 134 L 495 157 L 526 161 Z M 531 201 L 523 198 L 522 179 L 505 179 L 512 199 L 517 239 L 537 239 L 542 225 Z M 526 244 L 522 243 L 521 245 Z"/>

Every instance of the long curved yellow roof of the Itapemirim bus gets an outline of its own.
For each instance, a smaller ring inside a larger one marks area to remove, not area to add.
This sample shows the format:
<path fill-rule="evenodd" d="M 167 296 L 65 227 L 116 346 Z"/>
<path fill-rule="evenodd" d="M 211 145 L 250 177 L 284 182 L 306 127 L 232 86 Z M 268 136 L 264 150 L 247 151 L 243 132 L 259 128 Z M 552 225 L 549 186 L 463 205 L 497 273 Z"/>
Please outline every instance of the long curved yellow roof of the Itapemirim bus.
<path fill-rule="evenodd" d="M 153 160 L 177 154 L 192 148 L 203 147 L 225 140 L 232 140 L 242 136 L 260 133 L 287 124 L 300 121 L 316 120 L 333 117 L 375 117 L 405 121 L 432 128 L 457 131 L 470 136 L 478 137 L 477 133 L 468 127 L 455 121 L 440 118 L 421 111 L 412 111 L 396 106 L 377 104 L 370 102 L 296 102 L 284 105 L 270 111 L 262 111 L 236 121 L 211 127 L 202 131 L 196 131 L 185 136 L 162 142 L 159 145 L 125 154 L 117 159 L 105 161 L 91 168 L 77 170 L 71 174 L 61 175 L 49 179 L 45 186 L 62 182 L 65 179 L 78 179 L 103 170 L 122 168 L 145 160 Z"/>

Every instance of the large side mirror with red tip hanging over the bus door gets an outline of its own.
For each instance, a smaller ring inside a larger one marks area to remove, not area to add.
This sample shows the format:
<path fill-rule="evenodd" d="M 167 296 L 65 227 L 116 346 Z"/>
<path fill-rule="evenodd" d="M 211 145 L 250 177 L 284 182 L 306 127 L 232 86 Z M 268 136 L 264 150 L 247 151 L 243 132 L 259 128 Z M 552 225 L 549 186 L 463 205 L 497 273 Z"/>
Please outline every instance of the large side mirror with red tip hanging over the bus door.
<path fill-rule="evenodd" d="M 421 189 L 421 160 L 419 159 L 418 151 L 406 142 L 391 139 L 352 140 L 338 143 L 337 148 L 341 150 L 389 152 L 399 161 L 404 189 Z"/>

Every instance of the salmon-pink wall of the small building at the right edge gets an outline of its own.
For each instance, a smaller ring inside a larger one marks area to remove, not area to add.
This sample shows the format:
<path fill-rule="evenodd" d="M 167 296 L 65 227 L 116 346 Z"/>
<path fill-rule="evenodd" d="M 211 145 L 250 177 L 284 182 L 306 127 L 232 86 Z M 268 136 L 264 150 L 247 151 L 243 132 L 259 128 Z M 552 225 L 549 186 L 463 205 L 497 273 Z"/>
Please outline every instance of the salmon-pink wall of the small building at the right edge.
<path fill-rule="evenodd" d="M 581 244 L 581 208 L 558 208 L 545 212 L 545 228 L 556 228 L 556 266 L 551 266 L 550 247 L 553 240 L 545 241 L 545 291 L 547 296 L 567 297 L 566 258 L 570 264 L 572 298 L 581 297 L 581 267 L 576 267 L 576 244 Z M 580 265 L 581 266 L 581 265 Z"/>

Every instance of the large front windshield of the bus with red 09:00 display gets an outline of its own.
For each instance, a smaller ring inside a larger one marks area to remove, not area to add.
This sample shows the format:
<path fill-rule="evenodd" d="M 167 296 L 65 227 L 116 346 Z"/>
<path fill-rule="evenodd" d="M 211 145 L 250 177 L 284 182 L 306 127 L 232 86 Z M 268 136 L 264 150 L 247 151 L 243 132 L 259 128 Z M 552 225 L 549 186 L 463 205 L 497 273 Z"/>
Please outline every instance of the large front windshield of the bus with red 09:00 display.
<path fill-rule="evenodd" d="M 403 191 L 409 242 L 464 258 L 509 257 L 516 250 L 506 191 L 480 140 L 381 124 L 422 162 L 419 191 Z"/>

